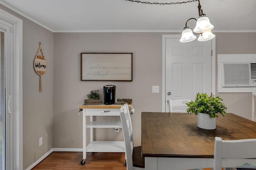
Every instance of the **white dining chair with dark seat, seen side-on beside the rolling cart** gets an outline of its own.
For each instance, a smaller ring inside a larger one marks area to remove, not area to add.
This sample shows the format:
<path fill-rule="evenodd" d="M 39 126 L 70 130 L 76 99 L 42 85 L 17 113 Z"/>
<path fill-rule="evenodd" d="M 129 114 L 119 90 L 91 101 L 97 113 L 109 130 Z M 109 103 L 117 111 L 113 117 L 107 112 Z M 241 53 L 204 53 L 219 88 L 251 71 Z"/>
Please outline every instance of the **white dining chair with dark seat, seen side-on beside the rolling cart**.
<path fill-rule="evenodd" d="M 126 168 L 127 170 L 144 170 L 145 159 L 141 156 L 141 146 L 134 147 L 132 123 L 127 104 L 120 109 L 120 117 L 126 147 Z"/>

